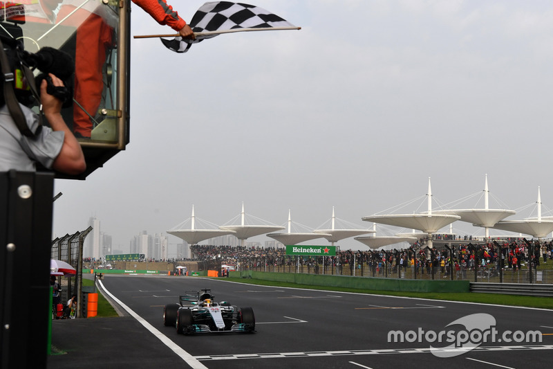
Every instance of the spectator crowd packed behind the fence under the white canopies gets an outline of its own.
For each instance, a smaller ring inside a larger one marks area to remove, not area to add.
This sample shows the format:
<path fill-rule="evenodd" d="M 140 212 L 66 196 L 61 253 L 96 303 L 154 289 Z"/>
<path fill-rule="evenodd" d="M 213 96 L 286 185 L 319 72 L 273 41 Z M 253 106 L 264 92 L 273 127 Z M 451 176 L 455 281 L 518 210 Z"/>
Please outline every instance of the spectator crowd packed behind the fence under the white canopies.
<path fill-rule="evenodd" d="M 459 242 L 451 246 L 435 246 L 433 249 L 421 247 L 416 243 L 406 249 L 382 250 L 344 250 L 335 256 L 296 256 L 285 255 L 285 248 L 263 248 L 246 246 L 193 245 L 191 255 L 195 260 L 218 260 L 221 264 L 238 265 L 241 269 L 263 269 L 281 271 L 282 268 L 293 271 L 294 267 L 307 267 L 314 273 L 321 269 L 335 273 L 353 275 L 354 269 L 366 268 L 376 273 L 397 273 L 402 269 L 415 267 L 417 273 L 442 273 L 448 276 L 451 267 L 463 278 L 467 271 L 481 268 L 496 272 L 503 266 L 505 270 L 520 270 L 532 263 L 538 267 L 552 259 L 551 241 L 527 242 L 523 238 L 507 238 L 487 243 L 473 244 Z M 344 270 L 345 269 L 345 270 Z M 349 273 L 347 271 L 349 269 Z M 359 273 L 362 274 L 362 273 Z"/>

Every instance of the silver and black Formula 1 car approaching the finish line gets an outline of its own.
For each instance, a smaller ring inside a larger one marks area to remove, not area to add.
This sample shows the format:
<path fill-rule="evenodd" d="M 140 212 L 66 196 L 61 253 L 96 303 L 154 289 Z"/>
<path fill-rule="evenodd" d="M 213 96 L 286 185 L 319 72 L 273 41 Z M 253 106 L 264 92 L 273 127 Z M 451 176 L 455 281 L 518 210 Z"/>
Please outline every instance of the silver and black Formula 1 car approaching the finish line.
<path fill-rule="evenodd" d="M 216 303 L 210 289 L 185 291 L 178 304 L 167 304 L 163 324 L 174 326 L 178 334 L 255 332 L 251 307 L 238 308 L 227 301 Z"/>

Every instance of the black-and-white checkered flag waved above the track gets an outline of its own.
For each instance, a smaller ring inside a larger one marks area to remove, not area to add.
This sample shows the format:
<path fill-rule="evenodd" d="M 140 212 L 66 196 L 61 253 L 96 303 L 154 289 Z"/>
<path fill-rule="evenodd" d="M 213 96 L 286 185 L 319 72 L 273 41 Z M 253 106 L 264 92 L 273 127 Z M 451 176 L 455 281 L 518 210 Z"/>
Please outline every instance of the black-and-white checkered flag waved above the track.
<path fill-rule="evenodd" d="M 259 6 L 230 1 L 213 1 L 203 4 L 189 23 L 196 39 L 161 39 L 163 44 L 177 53 L 186 53 L 192 44 L 221 33 L 252 30 L 298 30 L 300 29 L 278 15 Z"/>

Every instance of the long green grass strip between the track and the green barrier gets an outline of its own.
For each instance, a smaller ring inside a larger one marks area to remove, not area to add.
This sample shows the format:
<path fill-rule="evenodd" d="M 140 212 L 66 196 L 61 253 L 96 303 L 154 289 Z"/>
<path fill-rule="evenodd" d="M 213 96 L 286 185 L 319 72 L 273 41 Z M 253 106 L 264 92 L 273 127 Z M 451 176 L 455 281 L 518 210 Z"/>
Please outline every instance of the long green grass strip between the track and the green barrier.
<path fill-rule="evenodd" d="M 295 287 L 295 288 L 305 288 L 305 289 L 324 289 L 327 291 L 355 292 L 357 294 L 429 298 L 431 300 L 463 301 L 467 303 L 485 303 L 485 304 L 494 304 L 494 305 L 539 307 L 542 309 L 553 309 L 553 298 L 550 298 L 550 297 L 517 296 L 517 295 L 505 295 L 505 294 L 480 294 L 475 292 L 451 294 L 447 292 L 425 293 L 425 292 L 378 291 L 378 290 L 371 290 L 371 289 L 353 289 L 353 288 L 340 288 L 340 287 L 299 285 L 296 283 L 289 283 L 289 282 L 272 282 L 270 280 L 255 280 L 255 279 L 249 279 L 249 278 L 247 279 L 246 278 L 225 278 L 225 280 L 229 280 L 233 282 L 242 282 L 250 285 Z"/>

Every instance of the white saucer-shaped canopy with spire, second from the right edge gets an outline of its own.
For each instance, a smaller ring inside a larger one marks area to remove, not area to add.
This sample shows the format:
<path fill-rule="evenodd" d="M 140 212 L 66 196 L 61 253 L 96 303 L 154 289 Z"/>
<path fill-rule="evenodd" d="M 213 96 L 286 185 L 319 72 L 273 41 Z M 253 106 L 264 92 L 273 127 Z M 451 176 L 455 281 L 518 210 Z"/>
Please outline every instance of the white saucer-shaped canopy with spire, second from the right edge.
<path fill-rule="evenodd" d="M 489 238 L 489 228 L 493 227 L 497 222 L 516 214 L 514 210 L 507 209 L 490 209 L 489 208 L 489 189 L 488 177 L 485 176 L 484 184 L 484 208 L 482 209 L 451 209 L 451 210 L 434 210 L 435 214 L 458 215 L 461 217 L 461 222 L 471 223 L 474 226 L 485 228 L 485 237 Z"/>

